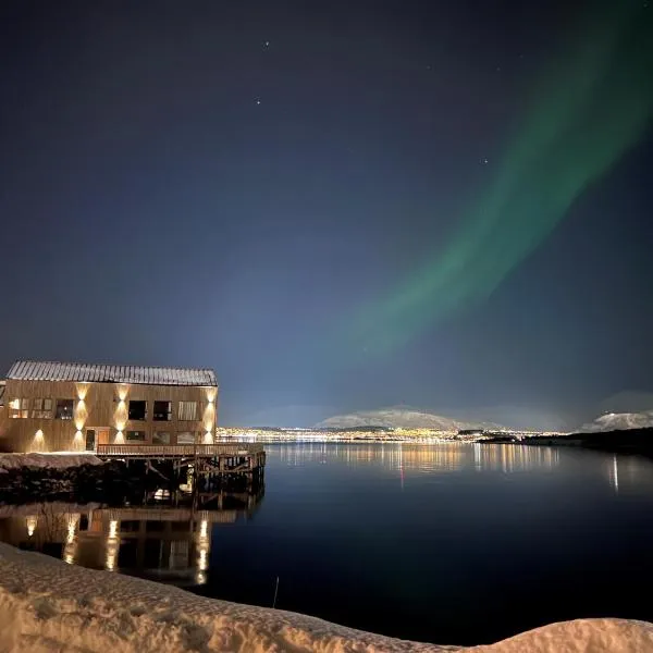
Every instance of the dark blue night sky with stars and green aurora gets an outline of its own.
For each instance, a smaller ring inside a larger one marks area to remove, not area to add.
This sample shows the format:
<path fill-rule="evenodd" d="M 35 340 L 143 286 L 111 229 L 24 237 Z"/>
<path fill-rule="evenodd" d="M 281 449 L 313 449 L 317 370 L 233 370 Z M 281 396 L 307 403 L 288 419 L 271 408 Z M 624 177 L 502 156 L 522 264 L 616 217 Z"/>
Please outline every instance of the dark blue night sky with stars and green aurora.
<path fill-rule="evenodd" d="M 226 424 L 653 392 L 648 4 L 3 3 L 0 367 L 213 367 Z"/>

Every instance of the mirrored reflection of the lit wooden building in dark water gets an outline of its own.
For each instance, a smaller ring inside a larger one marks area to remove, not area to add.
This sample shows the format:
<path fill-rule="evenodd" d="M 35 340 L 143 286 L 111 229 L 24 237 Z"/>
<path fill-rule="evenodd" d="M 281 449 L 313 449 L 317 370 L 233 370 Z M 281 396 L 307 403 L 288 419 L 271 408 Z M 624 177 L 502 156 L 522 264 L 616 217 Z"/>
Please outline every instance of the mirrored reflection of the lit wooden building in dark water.
<path fill-rule="evenodd" d="M 211 496 L 217 509 L 50 503 L 0 506 L 0 540 L 69 564 L 155 577 L 175 584 L 207 580 L 213 527 L 248 518 L 262 497 Z M 218 507 L 218 505 L 226 507 Z"/>

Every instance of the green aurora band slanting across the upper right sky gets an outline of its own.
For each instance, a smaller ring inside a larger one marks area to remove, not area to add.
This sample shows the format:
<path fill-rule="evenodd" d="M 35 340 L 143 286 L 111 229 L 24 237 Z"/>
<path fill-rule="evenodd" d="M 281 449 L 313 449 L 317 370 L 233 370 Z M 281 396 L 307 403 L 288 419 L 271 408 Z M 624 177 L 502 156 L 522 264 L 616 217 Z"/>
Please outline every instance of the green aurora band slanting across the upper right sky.
<path fill-rule="evenodd" d="M 653 115 L 646 3 L 587 4 L 574 38 L 529 86 L 523 119 L 479 199 L 447 243 L 357 315 L 357 346 L 389 354 L 439 318 L 488 299 L 638 143 Z"/>

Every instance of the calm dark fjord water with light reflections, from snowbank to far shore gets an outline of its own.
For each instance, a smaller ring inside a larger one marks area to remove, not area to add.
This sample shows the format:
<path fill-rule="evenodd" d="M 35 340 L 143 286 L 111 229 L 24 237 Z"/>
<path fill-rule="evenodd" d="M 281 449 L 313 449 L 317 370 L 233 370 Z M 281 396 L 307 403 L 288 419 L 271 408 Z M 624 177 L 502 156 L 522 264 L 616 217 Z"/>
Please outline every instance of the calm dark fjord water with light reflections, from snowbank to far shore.
<path fill-rule="evenodd" d="M 143 507 L 4 507 L 0 537 L 266 606 L 279 577 L 280 608 L 438 643 L 577 617 L 653 620 L 646 459 L 472 444 L 267 451 L 264 495 L 162 519 Z"/>

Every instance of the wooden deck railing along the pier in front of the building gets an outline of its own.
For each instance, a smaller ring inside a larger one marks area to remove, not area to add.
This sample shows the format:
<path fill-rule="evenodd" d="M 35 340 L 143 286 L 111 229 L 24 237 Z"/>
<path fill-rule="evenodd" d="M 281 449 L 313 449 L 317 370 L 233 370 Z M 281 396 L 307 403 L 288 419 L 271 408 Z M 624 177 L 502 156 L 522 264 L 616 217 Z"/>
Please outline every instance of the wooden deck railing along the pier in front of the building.
<path fill-rule="evenodd" d="M 98 456 L 178 458 L 198 456 L 250 456 L 260 454 L 263 445 L 250 442 L 220 444 L 98 444 Z"/>

